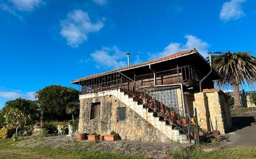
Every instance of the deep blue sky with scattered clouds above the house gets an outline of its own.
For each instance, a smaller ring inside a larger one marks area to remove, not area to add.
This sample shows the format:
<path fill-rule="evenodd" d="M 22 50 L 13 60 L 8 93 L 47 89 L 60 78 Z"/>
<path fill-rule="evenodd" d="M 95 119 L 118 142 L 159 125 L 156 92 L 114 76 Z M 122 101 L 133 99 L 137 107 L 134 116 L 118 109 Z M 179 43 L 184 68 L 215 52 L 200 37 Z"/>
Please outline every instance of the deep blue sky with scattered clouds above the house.
<path fill-rule="evenodd" d="M 0 1 L 0 108 L 17 97 L 197 48 L 256 52 L 256 1 Z M 245 87 L 247 90 L 253 88 Z"/>

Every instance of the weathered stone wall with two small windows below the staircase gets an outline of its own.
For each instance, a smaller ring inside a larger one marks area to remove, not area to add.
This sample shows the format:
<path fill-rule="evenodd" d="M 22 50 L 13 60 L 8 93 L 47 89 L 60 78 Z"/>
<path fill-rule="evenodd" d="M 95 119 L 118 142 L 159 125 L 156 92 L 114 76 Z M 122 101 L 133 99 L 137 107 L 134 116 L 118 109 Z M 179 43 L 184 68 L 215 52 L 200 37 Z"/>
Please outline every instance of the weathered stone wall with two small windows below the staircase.
<path fill-rule="evenodd" d="M 90 119 L 91 105 L 100 102 L 100 118 Z M 117 121 L 117 108 L 126 108 L 126 121 Z M 79 131 L 106 135 L 111 131 L 119 134 L 122 140 L 145 142 L 172 142 L 139 114 L 135 113 L 113 95 L 80 99 Z"/>

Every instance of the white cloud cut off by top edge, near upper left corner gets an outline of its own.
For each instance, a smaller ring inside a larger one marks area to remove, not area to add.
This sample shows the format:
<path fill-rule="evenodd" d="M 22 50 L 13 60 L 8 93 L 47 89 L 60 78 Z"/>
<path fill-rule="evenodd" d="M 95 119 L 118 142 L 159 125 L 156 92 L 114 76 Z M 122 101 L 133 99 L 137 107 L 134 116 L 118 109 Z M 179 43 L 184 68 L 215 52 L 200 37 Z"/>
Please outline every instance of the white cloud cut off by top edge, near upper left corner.
<path fill-rule="evenodd" d="M 9 0 L 19 11 L 33 11 L 36 7 L 43 4 L 42 0 Z"/>

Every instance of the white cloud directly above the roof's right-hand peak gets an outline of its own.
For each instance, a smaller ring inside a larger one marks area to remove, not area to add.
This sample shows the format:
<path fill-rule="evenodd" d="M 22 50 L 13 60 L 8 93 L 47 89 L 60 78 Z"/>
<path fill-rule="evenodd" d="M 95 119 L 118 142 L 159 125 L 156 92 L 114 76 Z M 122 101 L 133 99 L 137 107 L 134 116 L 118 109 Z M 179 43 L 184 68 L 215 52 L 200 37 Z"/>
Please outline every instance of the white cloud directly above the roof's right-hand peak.
<path fill-rule="evenodd" d="M 163 49 L 160 53 L 153 53 L 150 54 L 150 59 L 157 59 L 162 58 L 163 56 L 168 56 L 173 53 L 177 53 L 179 51 L 183 51 L 186 49 L 193 49 L 196 48 L 199 53 L 201 53 L 204 57 L 208 56 L 208 48 L 209 44 L 205 41 L 193 36 L 193 35 L 186 35 L 186 43 L 170 43 L 165 49 Z"/>

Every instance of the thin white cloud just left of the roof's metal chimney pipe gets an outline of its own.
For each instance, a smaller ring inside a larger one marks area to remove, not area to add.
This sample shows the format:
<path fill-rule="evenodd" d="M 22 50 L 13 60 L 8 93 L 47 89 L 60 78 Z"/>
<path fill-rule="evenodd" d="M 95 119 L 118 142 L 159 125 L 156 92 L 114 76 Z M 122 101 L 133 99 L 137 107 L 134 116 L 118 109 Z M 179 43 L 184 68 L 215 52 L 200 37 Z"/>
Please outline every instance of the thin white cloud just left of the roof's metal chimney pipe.
<path fill-rule="evenodd" d="M 105 69 L 118 69 L 126 66 L 126 53 L 120 51 L 116 46 L 109 48 L 103 47 L 91 53 L 91 58 L 96 62 L 96 67 Z"/>

